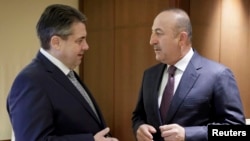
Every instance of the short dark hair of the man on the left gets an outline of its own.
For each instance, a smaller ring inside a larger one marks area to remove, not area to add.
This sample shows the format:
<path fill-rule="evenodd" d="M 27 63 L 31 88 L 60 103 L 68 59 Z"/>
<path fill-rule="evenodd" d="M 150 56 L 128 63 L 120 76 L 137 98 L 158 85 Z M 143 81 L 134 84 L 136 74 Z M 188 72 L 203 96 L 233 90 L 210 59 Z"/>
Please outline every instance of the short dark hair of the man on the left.
<path fill-rule="evenodd" d="M 53 35 L 67 39 L 71 34 L 71 25 L 75 22 L 85 24 L 86 20 L 86 16 L 73 7 L 62 4 L 48 6 L 36 25 L 41 47 L 48 50 Z"/>

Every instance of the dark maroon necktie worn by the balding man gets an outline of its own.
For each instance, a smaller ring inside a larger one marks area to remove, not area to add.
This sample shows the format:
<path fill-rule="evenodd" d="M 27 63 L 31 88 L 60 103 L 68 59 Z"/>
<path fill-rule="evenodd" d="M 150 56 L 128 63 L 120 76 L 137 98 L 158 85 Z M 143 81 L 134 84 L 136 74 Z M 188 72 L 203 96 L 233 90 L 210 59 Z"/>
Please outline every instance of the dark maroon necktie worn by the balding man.
<path fill-rule="evenodd" d="M 168 68 L 168 82 L 166 84 L 161 105 L 160 105 L 160 114 L 162 121 L 165 122 L 167 117 L 167 112 L 174 94 L 174 74 L 175 74 L 176 67 L 170 66 Z"/>

